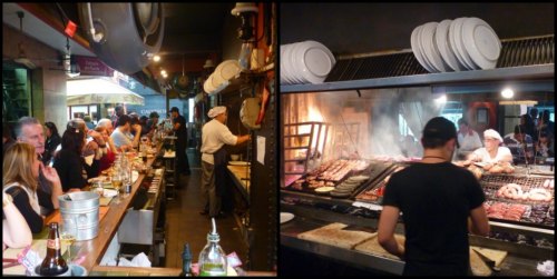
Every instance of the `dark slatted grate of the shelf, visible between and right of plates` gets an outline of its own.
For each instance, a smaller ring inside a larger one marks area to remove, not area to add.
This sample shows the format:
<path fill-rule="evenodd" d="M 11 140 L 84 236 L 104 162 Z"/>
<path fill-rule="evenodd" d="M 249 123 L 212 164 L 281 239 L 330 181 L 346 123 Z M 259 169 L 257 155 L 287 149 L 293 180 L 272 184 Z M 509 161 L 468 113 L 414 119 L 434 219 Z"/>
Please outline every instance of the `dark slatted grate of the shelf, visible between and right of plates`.
<path fill-rule="evenodd" d="M 506 40 L 497 68 L 547 64 L 555 61 L 555 36 Z M 378 79 L 429 73 L 413 52 L 339 59 L 325 82 Z"/>

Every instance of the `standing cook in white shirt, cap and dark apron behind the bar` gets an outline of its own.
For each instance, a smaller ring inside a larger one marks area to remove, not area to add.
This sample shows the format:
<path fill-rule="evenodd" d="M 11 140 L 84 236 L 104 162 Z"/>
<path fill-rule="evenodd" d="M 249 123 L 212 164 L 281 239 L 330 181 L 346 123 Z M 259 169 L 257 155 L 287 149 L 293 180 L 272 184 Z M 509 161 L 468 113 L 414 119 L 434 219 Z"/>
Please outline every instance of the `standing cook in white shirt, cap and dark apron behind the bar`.
<path fill-rule="evenodd" d="M 242 145 L 251 140 L 251 136 L 234 136 L 225 124 L 228 118 L 226 107 L 214 107 L 207 114 L 213 120 L 202 129 L 202 193 L 205 208 L 199 213 L 218 218 L 223 216 L 221 201 L 223 178 L 226 177 L 226 150 L 223 147 Z"/>

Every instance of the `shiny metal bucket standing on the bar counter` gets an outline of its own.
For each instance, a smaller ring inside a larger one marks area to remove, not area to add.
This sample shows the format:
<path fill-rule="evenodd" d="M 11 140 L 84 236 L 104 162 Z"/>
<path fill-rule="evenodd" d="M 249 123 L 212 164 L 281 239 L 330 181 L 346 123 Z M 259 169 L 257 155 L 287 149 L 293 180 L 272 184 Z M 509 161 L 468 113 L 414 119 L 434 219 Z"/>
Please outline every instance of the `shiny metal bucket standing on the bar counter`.
<path fill-rule="evenodd" d="M 71 198 L 69 199 L 68 196 Z M 99 232 L 99 195 L 80 191 L 58 197 L 61 221 L 72 219 L 77 225 L 76 241 L 89 240 Z"/>

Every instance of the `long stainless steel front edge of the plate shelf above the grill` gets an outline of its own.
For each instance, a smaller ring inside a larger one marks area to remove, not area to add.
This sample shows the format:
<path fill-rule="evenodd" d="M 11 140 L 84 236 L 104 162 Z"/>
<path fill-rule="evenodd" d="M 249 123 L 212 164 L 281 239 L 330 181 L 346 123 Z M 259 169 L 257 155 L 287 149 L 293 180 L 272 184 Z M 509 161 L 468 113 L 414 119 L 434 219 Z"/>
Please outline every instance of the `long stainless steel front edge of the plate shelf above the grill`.
<path fill-rule="evenodd" d="M 460 72 L 424 73 L 404 77 L 391 77 L 380 79 L 363 79 L 351 81 L 325 82 L 321 84 L 290 84 L 281 86 L 281 93 L 292 92 L 316 92 L 350 89 L 370 88 L 394 88 L 411 86 L 439 86 L 455 82 L 478 82 L 512 79 L 544 79 L 554 78 L 555 64 L 538 64 L 512 68 L 499 68 L 492 70 L 476 70 Z"/>

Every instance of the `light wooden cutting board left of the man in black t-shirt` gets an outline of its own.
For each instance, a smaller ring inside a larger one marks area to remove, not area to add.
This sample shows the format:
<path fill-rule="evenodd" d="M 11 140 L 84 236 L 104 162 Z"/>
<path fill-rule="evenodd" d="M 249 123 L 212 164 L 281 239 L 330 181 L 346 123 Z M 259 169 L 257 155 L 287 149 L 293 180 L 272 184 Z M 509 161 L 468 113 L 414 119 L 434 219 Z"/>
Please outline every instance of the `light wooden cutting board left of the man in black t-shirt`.
<path fill-rule="evenodd" d="M 297 238 L 324 245 L 353 249 L 356 245 L 371 239 L 377 233 L 358 230 L 343 230 L 348 225 L 334 222 L 319 229 L 297 235 Z"/>

